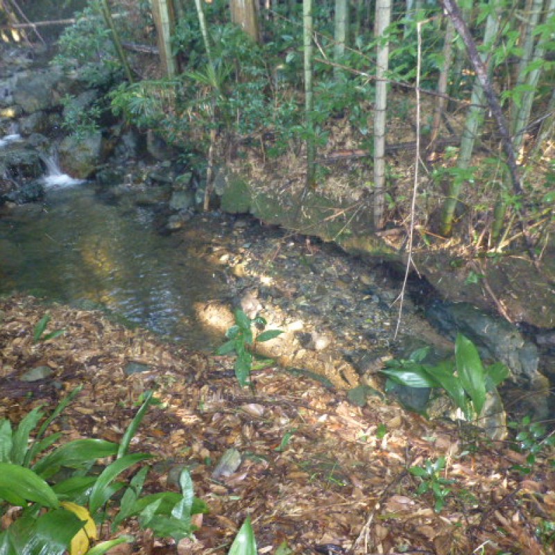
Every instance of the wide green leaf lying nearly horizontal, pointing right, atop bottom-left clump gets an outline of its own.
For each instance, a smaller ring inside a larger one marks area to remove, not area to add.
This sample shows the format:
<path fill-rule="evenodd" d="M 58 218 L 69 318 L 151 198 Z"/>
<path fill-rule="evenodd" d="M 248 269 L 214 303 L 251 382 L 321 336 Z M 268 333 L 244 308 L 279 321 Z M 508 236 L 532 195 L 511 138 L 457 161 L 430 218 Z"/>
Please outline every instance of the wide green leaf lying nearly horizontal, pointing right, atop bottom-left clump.
<path fill-rule="evenodd" d="M 55 451 L 40 459 L 33 470 L 38 475 L 46 477 L 56 473 L 62 466 L 66 468 L 82 468 L 86 463 L 103 459 L 105 456 L 116 454 L 117 443 L 103 439 L 76 439 L 70 441 Z"/>

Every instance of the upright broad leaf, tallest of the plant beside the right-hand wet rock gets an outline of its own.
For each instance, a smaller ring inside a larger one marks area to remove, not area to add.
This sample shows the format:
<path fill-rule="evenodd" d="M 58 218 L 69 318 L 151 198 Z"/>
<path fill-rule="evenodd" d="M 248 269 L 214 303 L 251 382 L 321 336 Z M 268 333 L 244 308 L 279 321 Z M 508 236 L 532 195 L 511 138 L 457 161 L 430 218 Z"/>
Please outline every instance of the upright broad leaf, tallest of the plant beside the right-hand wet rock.
<path fill-rule="evenodd" d="M 486 402 L 486 377 L 480 355 L 474 343 L 462 334 L 455 341 L 456 370 L 463 388 L 470 396 L 477 415 Z"/>

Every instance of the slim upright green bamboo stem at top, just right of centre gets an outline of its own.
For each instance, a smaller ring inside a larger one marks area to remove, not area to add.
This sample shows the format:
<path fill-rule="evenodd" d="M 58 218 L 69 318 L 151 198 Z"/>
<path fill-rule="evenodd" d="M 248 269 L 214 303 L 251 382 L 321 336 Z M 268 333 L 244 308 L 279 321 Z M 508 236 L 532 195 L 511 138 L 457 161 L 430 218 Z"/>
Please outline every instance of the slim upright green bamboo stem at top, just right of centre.
<path fill-rule="evenodd" d="M 302 0 L 303 44 L 305 49 L 305 121 L 307 126 L 306 187 L 314 187 L 316 144 L 314 142 L 314 99 L 312 96 L 312 0 Z"/>

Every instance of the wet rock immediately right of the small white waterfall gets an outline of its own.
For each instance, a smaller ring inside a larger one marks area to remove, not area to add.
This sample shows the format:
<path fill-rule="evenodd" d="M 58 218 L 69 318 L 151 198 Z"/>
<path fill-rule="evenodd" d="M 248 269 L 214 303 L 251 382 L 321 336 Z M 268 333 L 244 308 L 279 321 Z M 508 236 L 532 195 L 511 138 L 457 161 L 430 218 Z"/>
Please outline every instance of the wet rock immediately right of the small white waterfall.
<path fill-rule="evenodd" d="M 102 162 L 102 134 L 69 135 L 58 147 L 60 166 L 71 177 L 87 179 Z"/>

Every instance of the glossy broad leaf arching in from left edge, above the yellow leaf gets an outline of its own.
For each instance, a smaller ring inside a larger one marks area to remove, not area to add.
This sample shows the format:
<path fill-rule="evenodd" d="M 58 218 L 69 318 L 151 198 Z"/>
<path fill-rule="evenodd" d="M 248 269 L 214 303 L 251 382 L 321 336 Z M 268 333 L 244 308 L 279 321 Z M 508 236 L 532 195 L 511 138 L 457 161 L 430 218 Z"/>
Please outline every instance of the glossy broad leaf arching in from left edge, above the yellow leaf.
<path fill-rule="evenodd" d="M 0 491 L 35 501 L 45 507 L 58 508 L 56 493 L 46 482 L 28 468 L 10 463 L 0 463 Z M 4 497 L 7 499 L 7 497 Z M 8 499 L 9 501 L 9 499 Z"/>

